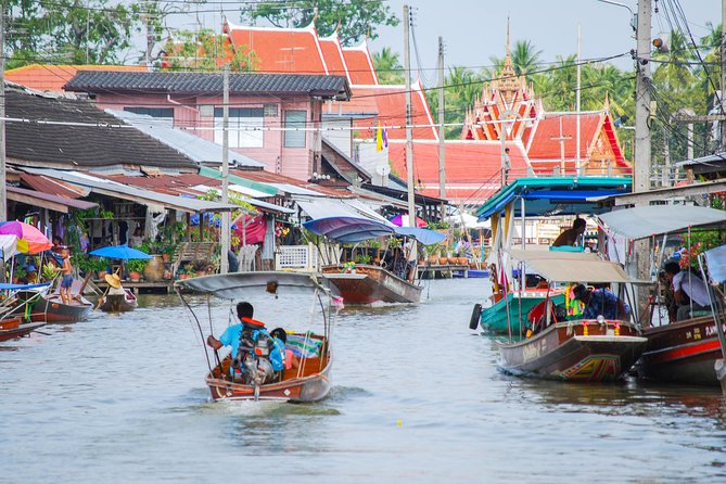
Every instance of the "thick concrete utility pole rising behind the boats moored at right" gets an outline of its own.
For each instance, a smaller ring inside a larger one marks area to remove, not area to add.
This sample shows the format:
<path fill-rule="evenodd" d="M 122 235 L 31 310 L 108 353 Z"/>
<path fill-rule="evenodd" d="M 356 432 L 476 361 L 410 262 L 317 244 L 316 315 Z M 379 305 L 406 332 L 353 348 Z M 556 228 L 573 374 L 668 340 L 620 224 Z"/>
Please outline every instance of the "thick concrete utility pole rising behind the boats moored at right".
<path fill-rule="evenodd" d="M 636 193 L 650 190 L 650 15 L 651 0 L 638 0 L 633 173 L 633 192 Z"/>

